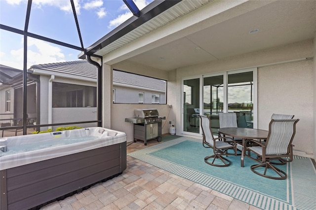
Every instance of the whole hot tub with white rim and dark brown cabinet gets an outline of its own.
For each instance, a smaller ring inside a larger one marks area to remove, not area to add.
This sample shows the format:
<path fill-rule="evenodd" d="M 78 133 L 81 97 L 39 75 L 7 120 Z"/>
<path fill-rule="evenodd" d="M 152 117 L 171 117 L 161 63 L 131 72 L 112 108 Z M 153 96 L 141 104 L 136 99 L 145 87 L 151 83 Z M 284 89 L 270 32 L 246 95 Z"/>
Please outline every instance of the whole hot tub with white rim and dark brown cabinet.
<path fill-rule="evenodd" d="M 1 210 L 63 199 L 126 169 L 125 133 L 101 127 L 0 138 L 0 149 Z"/>

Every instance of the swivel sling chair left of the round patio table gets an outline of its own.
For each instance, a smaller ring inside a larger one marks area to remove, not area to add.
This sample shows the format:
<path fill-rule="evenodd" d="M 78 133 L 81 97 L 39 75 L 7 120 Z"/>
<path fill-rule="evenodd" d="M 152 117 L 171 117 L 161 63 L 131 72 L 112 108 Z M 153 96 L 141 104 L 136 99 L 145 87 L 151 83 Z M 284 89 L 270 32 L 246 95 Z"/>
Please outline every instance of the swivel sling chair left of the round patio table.
<path fill-rule="evenodd" d="M 214 154 L 207 156 L 204 158 L 204 162 L 217 167 L 225 167 L 231 165 L 231 161 L 223 156 L 227 155 L 235 155 L 237 153 L 236 142 L 228 137 L 218 137 L 214 138 L 213 133 L 211 132 L 211 120 L 208 116 L 199 115 L 201 120 L 201 128 L 202 128 L 202 144 L 205 148 L 212 148 Z M 223 140 L 230 139 L 231 143 L 227 143 Z M 228 149 L 234 149 L 235 153 L 228 153 Z M 208 161 L 212 159 L 212 161 Z"/>

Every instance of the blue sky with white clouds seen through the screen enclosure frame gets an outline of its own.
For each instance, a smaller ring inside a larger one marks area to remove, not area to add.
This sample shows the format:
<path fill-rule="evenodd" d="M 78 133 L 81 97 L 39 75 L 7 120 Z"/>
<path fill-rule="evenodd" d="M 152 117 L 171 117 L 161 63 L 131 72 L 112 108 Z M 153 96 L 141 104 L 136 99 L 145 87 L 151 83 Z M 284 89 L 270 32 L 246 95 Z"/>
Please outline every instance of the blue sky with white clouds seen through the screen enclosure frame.
<path fill-rule="evenodd" d="M 139 9 L 153 0 L 134 0 Z M 86 48 L 132 17 L 123 0 L 74 0 Z M 24 30 L 27 0 L 0 0 L 0 23 Z M 81 46 L 70 0 L 33 0 L 28 31 Z M 80 52 L 28 38 L 27 67 L 78 60 Z M 0 64 L 23 69 L 23 36 L 0 30 Z"/>

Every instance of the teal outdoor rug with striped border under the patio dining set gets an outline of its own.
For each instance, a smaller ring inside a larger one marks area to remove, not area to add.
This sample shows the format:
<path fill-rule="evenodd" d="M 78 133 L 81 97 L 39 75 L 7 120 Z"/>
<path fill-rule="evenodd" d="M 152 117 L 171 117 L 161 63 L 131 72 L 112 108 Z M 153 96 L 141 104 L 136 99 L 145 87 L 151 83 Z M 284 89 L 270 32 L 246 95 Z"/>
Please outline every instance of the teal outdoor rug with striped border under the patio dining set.
<path fill-rule="evenodd" d="M 310 158 L 295 156 L 291 163 L 278 165 L 288 178 L 274 180 L 256 175 L 245 157 L 228 156 L 229 167 L 213 167 L 204 162 L 212 149 L 201 140 L 181 137 L 138 150 L 128 155 L 175 175 L 264 210 L 316 210 L 316 170 Z"/>

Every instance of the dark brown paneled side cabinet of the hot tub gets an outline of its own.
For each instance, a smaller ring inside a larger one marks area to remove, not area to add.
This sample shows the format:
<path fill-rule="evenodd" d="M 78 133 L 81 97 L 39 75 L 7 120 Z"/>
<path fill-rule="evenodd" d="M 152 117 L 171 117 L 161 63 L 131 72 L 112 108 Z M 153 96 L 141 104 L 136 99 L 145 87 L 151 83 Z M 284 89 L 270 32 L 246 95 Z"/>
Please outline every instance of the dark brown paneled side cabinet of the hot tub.
<path fill-rule="evenodd" d="M 60 200 L 126 169 L 126 141 L 0 171 L 0 210 Z"/>

